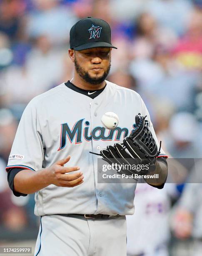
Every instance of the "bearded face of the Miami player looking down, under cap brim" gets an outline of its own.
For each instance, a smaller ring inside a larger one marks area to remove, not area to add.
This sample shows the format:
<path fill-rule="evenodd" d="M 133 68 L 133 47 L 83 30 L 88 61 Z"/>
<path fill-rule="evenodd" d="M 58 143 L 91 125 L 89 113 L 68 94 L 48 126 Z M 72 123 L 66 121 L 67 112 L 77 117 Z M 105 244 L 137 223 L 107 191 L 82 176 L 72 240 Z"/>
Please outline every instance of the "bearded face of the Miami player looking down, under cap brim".
<path fill-rule="evenodd" d="M 82 79 L 91 84 L 105 80 L 111 67 L 111 48 L 97 47 L 75 51 L 75 69 Z"/>

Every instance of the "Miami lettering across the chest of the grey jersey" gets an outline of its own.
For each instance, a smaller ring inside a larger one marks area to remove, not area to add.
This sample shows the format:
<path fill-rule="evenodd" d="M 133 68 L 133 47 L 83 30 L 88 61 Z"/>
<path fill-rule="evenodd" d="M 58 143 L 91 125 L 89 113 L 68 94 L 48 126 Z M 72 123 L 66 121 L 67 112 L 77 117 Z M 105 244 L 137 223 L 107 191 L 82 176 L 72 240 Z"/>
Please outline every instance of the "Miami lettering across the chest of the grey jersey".
<path fill-rule="evenodd" d="M 129 133 L 126 127 L 120 128 L 118 126 L 114 130 L 108 130 L 105 127 L 97 126 L 93 128 L 91 132 L 90 122 L 84 120 L 85 118 L 78 120 L 73 125 L 72 129 L 67 123 L 61 124 L 60 148 L 58 148 L 58 151 L 65 147 L 67 139 L 70 141 L 70 143 L 75 144 L 82 143 L 82 138 L 84 138 L 86 141 L 91 141 L 92 139 L 95 141 L 120 141 Z M 132 125 L 132 129 L 134 128 L 135 124 Z"/>

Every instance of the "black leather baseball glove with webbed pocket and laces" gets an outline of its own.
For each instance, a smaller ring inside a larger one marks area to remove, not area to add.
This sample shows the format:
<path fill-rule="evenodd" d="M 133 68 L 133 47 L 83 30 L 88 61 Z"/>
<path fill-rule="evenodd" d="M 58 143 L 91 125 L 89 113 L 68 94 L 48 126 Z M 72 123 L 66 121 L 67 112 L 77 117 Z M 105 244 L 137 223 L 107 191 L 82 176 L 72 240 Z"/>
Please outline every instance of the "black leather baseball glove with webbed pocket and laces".
<path fill-rule="evenodd" d="M 107 146 L 106 149 L 100 151 L 100 154 L 90 153 L 102 156 L 102 159 L 109 164 L 122 165 L 119 172 L 121 174 L 147 174 L 154 170 L 160 149 L 158 150 L 155 139 L 148 128 L 149 122 L 145 120 L 146 117 L 141 116 L 140 113 L 136 115 L 136 128 L 124 138 L 123 143 Z M 137 171 L 135 168 L 137 165 L 147 166 Z"/>

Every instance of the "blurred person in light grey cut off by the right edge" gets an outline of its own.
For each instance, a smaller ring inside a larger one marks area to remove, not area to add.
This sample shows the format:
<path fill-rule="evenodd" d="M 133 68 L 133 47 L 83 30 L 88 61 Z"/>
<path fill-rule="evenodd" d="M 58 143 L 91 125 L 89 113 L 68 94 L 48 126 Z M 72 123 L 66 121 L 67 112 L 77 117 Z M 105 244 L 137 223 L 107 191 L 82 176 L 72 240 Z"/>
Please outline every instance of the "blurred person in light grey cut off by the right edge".
<path fill-rule="evenodd" d="M 195 166 L 190 173 L 192 182 L 200 182 L 201 164 L 200 159 L 195 159 Z M 193 243 L 190 248 L 190 255 L 192 256 L 200 256 L 202 252 L 201 195 L 201 183 L 186 183 L 172 216 L 171 228 L 175 236 L 182 240 L 192 238 Z"/>

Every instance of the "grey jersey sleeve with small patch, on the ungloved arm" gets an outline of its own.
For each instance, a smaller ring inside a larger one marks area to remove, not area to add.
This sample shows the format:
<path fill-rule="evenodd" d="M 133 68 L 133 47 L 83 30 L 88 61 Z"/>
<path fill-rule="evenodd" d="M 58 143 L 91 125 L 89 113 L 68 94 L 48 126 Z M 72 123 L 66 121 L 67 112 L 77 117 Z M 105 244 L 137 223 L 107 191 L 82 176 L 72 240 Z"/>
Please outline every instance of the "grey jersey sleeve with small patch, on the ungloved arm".
<path fill-rule="evenodd" d="M 31 101 L 25 108 L 17 128 L 6 171 L 23 168 L 42 169 L 43 143 L 37 109 Z"/>

